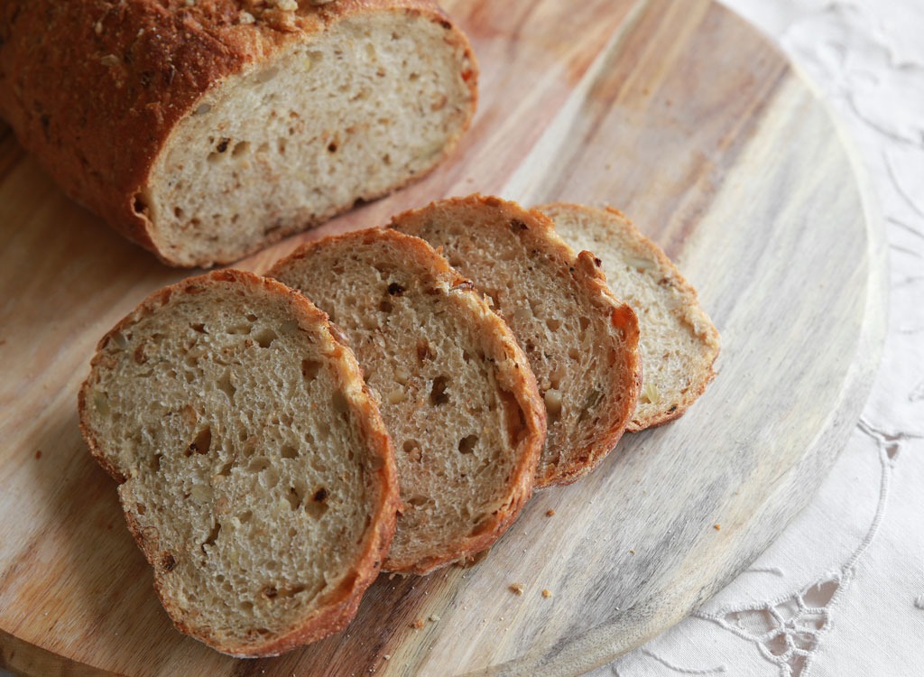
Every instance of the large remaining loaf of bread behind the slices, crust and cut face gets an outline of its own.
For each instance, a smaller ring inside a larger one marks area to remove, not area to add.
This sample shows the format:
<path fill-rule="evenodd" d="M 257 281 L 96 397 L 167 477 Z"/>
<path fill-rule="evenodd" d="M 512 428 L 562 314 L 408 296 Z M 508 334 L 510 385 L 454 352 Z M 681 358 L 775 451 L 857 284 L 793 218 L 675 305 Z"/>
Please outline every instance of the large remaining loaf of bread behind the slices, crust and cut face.
<path fill-rule="evenodd" d="M 419 178 L 476 103 L 432 0 L 9 5 L 0 116 L 170 265 L 236 261 Z"/>

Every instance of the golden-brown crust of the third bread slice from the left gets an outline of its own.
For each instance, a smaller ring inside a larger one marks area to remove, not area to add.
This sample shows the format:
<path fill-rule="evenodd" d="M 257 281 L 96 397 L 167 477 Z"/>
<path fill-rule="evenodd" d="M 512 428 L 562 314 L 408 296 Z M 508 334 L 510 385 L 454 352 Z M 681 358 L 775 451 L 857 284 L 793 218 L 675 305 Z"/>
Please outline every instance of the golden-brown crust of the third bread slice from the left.
<path fill-rule="evenodd" d="M 568 485 L 590 473 L 602 462 L 622 437 L 635 411 L 641 388 L 641 357 L 638 352 L 638 319 L 626 303 L 615 298 L 606 285 L 599 265 L 590 255 L 575 255 L 564 240 L 554 231 L 552 220 L 540 211 L 526 210 L 519 204 L 495 196 L 480 194 L 455 197 L 431 203 L 420 209 L 409 210 L 392 218 L 388 228 L 411 235 L 418 234 L 416 226 L 408 226 L 415 215 L 432 215 L 434 212 L 450 214 L 457 208 L 485 207 L 496 210 L 499 220 L 519 224 L 516 229 L 524 249 L 551 260 L 557 268 L 571 277 L 583 297 L 595 307 L 598 314 L 608 315 L 612 325 L 621 333 L 623 350 L 618 351 L 619 363 L 610 370 L 610 393 L 621 393 L 621 403 L 614 409 L 611 420 L 595 432 L 586 444 L 578 449 L 567 449 L 567 459 L 557 465 L 540 462 L 535 478 L 537 488 Z M 446 218 L 451 218 L 447 215 Z M 419 223 L 419 222 L 418 222 Z M 477 282 L 477 281 L 476 281 Z M 499 311 L 503 317 L 503 312 Z M 541 404 L 545 410 L 544 403 Z"/>

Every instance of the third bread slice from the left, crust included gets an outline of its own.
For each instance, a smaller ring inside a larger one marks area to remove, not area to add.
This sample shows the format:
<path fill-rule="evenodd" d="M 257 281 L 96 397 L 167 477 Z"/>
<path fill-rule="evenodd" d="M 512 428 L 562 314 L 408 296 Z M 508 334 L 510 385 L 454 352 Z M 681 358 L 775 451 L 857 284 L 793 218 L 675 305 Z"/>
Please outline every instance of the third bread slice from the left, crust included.
<path fill-rule="evenodd" d="M 432 203 L 390 228 L 442 248 L 513 329 L 547 408 L 536 484 L 589 473 L 622 436 L 641 378 L 635 314 L 593 258 L 576 257 L 545 216 L 494 197 Z"/>

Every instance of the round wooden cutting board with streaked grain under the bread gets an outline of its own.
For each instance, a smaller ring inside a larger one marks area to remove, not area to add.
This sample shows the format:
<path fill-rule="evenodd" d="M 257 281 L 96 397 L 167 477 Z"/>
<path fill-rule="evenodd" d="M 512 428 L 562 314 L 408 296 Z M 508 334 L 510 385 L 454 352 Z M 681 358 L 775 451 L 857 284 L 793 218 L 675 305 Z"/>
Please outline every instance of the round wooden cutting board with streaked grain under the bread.
<path fill-rule="evenodd" d="M 4 128 L 0 665 L 577 674 L 696 609 L 819 485 L 857 421 L 884 330 L 878 224 L 824 106 L 708 0 L 446 5 L 482 68 L 461 147 L 423 182 L 242 266 L 265 270 L 300 241 L 447 195 L 613 204 L 699 289 L 723 337 L 711 387 L 681 419 L 624 437 L 596 473 L 538 492 L 479 564 L 383 575 L 346 632 L 277 659 L 227 658 L 171 626 L 77 425 L 96 340 L 187 273 L 70 203 Z"/>

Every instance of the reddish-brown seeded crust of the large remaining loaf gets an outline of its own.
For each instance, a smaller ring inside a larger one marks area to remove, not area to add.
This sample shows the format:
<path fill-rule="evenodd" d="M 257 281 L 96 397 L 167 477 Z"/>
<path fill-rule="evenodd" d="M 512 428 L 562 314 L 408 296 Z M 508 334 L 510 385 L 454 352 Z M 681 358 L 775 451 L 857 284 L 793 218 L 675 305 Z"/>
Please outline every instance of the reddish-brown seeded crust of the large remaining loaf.
<path fill-rule="evenodd" d="M 468 39 L 432 0 L 302 2 L 295 12 L 264 0 L 7 0 L 0 7 L 0 116 L 69 197 L 165 264 L 188 265 L 158 251 L 145 198 L 171 130 L 228 76 L 335 21 L 374 11 L 444 26 L 471 64 L 464 77 L 474 111 L 478 68 Z M 466 129 L 469 123 L 470 116 Z"/>

